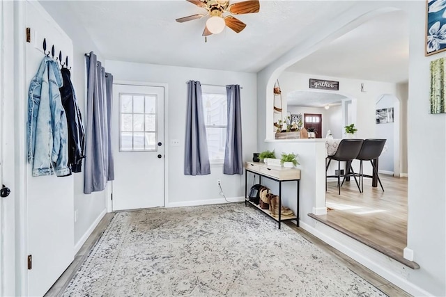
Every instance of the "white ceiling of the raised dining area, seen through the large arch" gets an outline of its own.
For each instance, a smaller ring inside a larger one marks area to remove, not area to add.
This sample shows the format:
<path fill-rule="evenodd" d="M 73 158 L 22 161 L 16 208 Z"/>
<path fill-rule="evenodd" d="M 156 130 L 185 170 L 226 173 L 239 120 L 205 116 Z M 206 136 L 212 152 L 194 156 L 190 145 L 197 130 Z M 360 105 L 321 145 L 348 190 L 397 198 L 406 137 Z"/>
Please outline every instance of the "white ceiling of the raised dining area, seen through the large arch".
<path fill-rule="evenodd" d="M 380 15 L 302 59 L 286 71 L 400 83 L 408 81 L 408 19 Z"/>

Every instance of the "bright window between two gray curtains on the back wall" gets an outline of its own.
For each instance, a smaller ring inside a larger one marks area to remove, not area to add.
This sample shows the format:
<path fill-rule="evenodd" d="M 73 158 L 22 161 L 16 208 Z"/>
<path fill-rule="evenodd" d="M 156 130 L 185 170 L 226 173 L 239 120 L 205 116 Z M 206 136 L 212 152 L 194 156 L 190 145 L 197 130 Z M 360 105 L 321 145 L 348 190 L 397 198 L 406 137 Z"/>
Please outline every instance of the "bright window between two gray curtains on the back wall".
<path fill-rule="evenodd" d="M 201 86 L 201 90 L 209 161 L 211 163 L 223 163 L 228 118 L 226 88 Z"/>

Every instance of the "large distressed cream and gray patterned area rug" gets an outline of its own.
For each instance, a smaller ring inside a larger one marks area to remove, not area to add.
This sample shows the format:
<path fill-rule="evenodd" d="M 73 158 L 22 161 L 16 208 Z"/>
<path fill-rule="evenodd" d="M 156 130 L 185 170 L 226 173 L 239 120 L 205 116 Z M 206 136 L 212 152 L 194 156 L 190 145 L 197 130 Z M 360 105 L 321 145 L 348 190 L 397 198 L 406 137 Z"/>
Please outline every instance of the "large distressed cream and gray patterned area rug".
<path fill-rule="evenodd" d="M 63 296 L 385 296 L 244 204 L 118 212 Z"/>

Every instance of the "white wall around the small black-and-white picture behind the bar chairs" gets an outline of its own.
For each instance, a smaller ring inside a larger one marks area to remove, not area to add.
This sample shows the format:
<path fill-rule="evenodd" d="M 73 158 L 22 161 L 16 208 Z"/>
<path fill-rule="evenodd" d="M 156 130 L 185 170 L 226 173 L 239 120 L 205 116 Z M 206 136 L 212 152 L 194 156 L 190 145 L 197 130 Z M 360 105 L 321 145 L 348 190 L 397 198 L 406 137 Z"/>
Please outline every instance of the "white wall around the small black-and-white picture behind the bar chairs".
<path fill-rule="evenodd" d="M 376 109 L 387 109 L 394 108 L 394 114 L 397 114 L 399 110 L 397 104 L 395 104 L 398 99 L 392 95 L 383 95 L 381 99 L 376 103 Z M 394 168 L 394 143 L 395 140 L 399 140 L 399 135 L 395 135 L 395 126 L 399 123 L 395 122 L 376 124 L 376 138 L 387 139 L 385 141 L 386 150 L 379 157 L 379 170 L 385 170 L 387 172 L 393 172 Z"/>

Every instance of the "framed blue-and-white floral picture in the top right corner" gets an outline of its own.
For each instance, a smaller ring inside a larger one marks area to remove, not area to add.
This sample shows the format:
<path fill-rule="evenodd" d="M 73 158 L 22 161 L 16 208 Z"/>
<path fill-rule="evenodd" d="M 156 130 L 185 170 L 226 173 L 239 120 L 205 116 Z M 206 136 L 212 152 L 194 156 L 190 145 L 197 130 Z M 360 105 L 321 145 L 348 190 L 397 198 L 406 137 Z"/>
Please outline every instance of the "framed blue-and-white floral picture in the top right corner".
<path fill-rule="evenodd" d="M 446 0 L 426 0 L 426 56 L 446 50 Z"/>

